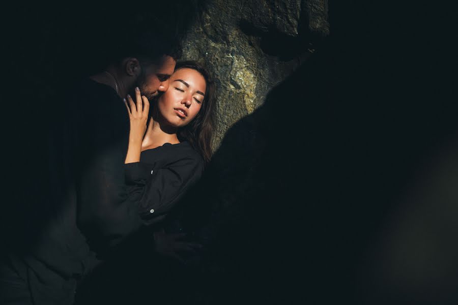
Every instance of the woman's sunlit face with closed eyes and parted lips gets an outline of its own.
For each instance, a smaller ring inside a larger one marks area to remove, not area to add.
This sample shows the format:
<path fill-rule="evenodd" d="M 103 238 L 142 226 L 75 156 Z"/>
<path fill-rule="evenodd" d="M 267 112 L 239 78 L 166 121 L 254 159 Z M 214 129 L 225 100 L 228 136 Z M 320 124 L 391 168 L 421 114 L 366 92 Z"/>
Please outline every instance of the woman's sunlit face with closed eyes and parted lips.
<path fill-rule="evenodd" d="M 189 68 L 175 71 L 167 91 L 158 100 L 160 114 L 171 126 L 186 126 L 201 110 L 206 88 L 199 72 Z"/>

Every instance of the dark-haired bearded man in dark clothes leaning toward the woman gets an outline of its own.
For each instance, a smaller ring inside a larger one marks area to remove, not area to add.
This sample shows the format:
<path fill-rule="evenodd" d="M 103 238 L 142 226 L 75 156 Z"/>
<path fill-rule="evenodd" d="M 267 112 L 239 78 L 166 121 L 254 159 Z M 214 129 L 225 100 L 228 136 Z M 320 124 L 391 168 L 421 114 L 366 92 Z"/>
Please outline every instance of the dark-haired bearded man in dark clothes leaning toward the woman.
<path fill-rule="evenodd" d="M 125 188 L 144 173 L 124 165 L 129 118 L 122 98 L 136 86 L 148 98 L 164 92 L 180 49 L 154 32 L 126 45 L 104 71 L 51 104 L 58 106 L 50 116 L 60 115 L 51 123 L 50 191 L 24 211 L 28 229 L 2 257 L 0 303 L 72 304 L 77 281 L 127 239 L 141 240 L 142 251 L 154 248 Z"/>

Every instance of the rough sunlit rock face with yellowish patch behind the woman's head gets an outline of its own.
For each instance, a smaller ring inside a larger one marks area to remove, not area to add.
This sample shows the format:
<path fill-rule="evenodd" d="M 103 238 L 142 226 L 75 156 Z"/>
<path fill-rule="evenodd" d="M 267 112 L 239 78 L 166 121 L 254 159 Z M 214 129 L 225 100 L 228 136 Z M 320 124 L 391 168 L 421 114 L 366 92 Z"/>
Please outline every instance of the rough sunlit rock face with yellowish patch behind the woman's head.
<path fill-rule="evenodd" d="M 329 34 L 327 0 L 213 0 L 189 29 L 184 59 L 206 64 L 217 82 L 216 149 L 227 129 Z"/>

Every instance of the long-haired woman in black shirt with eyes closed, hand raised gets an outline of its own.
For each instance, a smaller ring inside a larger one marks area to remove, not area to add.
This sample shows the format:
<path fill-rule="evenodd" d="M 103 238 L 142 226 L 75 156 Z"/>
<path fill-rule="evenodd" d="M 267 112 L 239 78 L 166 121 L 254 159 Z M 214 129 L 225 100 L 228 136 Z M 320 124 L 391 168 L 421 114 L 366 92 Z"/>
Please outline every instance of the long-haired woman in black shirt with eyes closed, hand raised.
<path fill-rule="evenodd" d="M 168 211 L 201 176 L 211 158 L 215 87 L 193 61 L 177 63 L 169 87 L 150 104 L 136 88 L 124 102 L 130 118 L 126 175 L 148 224 Z M 147 121 L 149 123 L 147 125 Z M 148 128 L 147 128 L 148 127 Z"/>

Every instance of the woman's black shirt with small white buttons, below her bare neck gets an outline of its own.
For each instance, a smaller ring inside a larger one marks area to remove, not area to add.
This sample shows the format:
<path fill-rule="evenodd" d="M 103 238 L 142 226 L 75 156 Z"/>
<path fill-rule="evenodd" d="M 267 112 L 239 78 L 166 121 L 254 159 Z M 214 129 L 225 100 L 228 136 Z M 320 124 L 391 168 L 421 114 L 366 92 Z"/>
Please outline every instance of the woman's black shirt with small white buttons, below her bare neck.
<path fill-rule="evenodd" d="M 138 162 L 126 172 L 129 196 L 137 200 L 139 216 L 151 224 L 176 205 L 202 172 L 203 161 L 195 157 L 185 157 L 152 171 Z"/>

